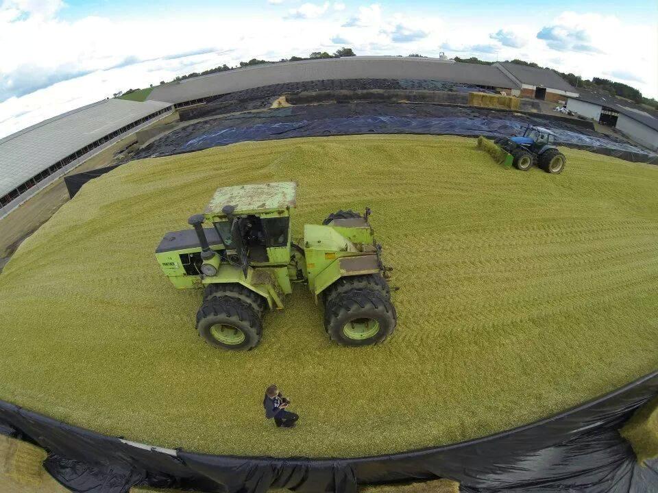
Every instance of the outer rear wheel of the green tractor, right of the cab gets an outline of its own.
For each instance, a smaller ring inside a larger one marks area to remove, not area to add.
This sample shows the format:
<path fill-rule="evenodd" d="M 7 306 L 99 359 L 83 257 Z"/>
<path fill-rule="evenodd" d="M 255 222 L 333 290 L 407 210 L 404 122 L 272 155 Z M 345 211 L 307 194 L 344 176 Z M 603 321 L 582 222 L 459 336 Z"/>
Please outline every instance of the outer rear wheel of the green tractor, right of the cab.
<path fill-rule="evenodd" d="M 368 346 L 385 340 L 398 315 L 378 291 L 350 290 L 326 305 L 324 325 L 331 340 L 343 346 Z"/>

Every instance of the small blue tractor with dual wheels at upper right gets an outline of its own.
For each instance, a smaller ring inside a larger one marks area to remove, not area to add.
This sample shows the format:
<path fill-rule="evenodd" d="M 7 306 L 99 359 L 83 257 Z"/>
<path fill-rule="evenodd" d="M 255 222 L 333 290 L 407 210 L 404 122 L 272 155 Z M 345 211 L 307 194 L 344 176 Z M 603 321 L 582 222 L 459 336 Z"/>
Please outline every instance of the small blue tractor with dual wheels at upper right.
<path fill-rule="evenodd" d="M 527 171 L 537 164 L 539 168 L 557 175 L 562 173 L 567 158 L 553 144 L 555 134 L 544 127 L 528 125 L 523 136 L 500 137 L 493 141 L 511 154 L 515 168 Z"/>

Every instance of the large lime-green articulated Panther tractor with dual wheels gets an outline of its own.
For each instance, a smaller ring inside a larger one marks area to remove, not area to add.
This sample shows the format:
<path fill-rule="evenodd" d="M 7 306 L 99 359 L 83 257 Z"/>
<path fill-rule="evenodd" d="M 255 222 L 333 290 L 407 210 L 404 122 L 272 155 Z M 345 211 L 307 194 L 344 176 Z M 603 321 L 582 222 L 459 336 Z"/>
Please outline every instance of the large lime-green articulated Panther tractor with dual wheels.
<path fill-rule="evenodd" d="M 296 184 L 269 183 L 217 189 L 193 229 L 167 233 L 156 259 L 178 289 L 203 288 L 197 330 L 208 344 L 249 350 L 263 333 L 266 309 L 282 309 L 294 283 L 305 283 L 324 305 L 330 338 L 347 346 L 382 342 L 397 323 L 368 222 L 352 210 L 305 225 L 293 242 Z"/>

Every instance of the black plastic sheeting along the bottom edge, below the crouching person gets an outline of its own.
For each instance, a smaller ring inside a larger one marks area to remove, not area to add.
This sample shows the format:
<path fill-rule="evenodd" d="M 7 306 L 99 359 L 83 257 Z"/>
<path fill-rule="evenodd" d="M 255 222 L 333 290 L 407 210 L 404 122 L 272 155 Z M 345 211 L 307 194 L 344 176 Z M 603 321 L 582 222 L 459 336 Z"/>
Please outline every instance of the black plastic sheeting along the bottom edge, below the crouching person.
<path fill-rule="evenodd" d="M 465 493 L 647 493 L 658 492 L 658 459 L 639 466 L 617 430 L 656 394 L 658 372 L 533 425 L 460 444 L 356 459 L 149 450 L 1 401 L 0 431 L 45 448 L 45 467 L 73 492 L 124 493 L 145 484 L 228 493 L 269 488 L 356 493 L 358 485 L 446 477 L 459 481 Z"/>

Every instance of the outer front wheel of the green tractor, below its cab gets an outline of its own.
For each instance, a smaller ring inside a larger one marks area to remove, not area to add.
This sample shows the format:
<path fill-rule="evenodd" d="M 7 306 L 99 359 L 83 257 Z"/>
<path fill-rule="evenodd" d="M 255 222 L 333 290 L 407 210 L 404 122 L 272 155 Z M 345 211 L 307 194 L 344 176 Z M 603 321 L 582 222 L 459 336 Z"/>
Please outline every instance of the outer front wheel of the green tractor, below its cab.
<path fill-rule="evenodd" d="M 263 324 L 256 309 L 232 296 L 210 298 L 197 312 L 197 330 L 210 346 L 249 351 L 258 346 Z"/>

